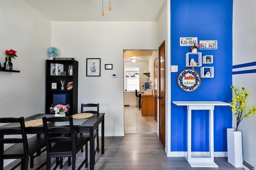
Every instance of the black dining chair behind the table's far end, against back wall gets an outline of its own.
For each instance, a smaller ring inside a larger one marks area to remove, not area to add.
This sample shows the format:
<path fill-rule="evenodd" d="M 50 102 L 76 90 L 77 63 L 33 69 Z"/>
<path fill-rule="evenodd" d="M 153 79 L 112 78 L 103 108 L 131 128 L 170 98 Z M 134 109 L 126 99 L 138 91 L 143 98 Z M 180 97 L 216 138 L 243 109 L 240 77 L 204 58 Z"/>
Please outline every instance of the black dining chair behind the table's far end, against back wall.
<path fill-rule="evenodd" d="M 98 114 L 99 113 L 99 107 L 100 107 L 100 104 L 97 103 L 97 104 L 93 104 L 93 103 L 88 103 L 88 104 L 81 104 L 81 113 L 93 113 L 93 114 Z M 83 136 L 90 136 L 89 133 L 82 133 Z M 100 148 L 99 148 L 99 127 L 96 127 L 96 129 L 94 130 L 94 139 L 96 138 L 97 140 L 97 145 L 96 145 L 96 148 L 94 150 L 94 155 L 96 154 L 96 152 L 99 152 L 100 151 Z M 83 152 L 83 150 L 82 150 Z M 95 164 L 95 162 L 94 162 Z"/>

